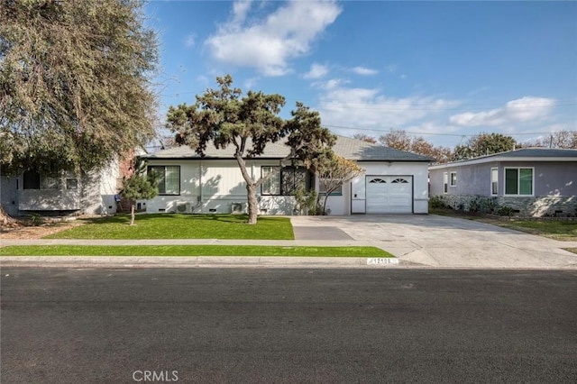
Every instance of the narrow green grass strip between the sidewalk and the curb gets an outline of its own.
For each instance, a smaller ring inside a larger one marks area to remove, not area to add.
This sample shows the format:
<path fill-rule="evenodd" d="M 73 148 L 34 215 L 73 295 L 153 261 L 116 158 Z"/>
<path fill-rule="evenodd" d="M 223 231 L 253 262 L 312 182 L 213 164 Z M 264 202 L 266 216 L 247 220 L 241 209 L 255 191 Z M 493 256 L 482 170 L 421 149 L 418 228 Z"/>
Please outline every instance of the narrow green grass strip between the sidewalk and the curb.
<path fill-rule="evenodd" d="M 13 245 L 0 256 L 313 256 L 394 257 L 375 247 L 279 247 L 263 245 Z"/>

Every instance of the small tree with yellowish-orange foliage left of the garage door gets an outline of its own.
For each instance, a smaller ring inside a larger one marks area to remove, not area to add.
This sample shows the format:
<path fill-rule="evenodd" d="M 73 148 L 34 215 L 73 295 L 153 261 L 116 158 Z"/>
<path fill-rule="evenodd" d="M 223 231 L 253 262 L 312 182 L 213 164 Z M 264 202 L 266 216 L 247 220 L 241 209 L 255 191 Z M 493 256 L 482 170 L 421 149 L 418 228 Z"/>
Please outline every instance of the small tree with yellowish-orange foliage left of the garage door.
<path fill-rule="evenodd" d="M 325 195 L 319 193 L 317 197 L 319 200 L 323 199 L 322 204 L 320 202 L 318 204 L 323 207 L 322 215 L 326 215 L 326 202 L 331 193 L 342 187 L 347 181 L 364 173 L 364 169 L 356 162 L 344 159 L 334 154 L 333 151 L 327 151 L 316 160 L 314 170 L 319 179 L 321 190 L 325 191 Z"/>

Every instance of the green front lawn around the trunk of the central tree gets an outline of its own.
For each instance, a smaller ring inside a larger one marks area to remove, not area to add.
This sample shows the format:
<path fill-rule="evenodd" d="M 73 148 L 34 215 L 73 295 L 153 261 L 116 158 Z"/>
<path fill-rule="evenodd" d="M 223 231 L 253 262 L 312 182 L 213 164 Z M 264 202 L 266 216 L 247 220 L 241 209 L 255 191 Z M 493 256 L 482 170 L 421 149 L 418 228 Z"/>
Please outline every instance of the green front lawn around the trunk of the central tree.
<path fill-rule="evenodd" d="M 45 239 L 254 239 L 294 240 L 288 217 L 261 216 L 255 225 L 246 215 L 130 215 L 87 220 Z"/>

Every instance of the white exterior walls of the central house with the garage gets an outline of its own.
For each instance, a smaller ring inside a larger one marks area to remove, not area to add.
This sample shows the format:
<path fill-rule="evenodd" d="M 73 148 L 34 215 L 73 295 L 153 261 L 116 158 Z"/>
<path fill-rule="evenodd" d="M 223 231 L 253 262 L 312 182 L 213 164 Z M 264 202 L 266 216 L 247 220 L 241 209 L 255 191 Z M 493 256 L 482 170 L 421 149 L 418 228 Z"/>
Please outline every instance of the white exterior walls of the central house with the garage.
<path fill-rule="evenodd" d="M 262 166 L 278 166 L 279 160 L 247 160 L 252 178 L 261 177 Z M 413 178 L 413 213 L 428 212 L 427 164 L 425 162 L 360 162 L 365 174 L 343 185 L 342 196 L 329 196 L 330 215 L 365 213 L 365 175 L 410 176 Z M 149 165 L 180 166 L 180 195 L 157 196 L 146 202 L 146 212 L 177 212 L 178 203 L 195 206 L 194 213 L 230 214 L 234 203 L 243 205 L 247 197 L 243 174 L 236 160 L 149 160 Z M 318 180 L 316 180 L 318 191 Z M 261 196 L 261 215 L 297 215 L 296 201 L 290 196 Z"/>

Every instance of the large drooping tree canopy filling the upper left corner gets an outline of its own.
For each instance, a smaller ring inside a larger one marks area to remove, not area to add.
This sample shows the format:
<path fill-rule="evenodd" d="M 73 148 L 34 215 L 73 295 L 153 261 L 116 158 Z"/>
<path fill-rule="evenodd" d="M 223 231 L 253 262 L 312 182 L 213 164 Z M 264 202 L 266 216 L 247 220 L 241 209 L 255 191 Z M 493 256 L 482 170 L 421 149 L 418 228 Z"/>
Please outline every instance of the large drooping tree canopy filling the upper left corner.
<path fill-rule="evenodd" d="M 0 2 L 0 166 L 97 169 L 154 133 L 138 0 Z"/>

